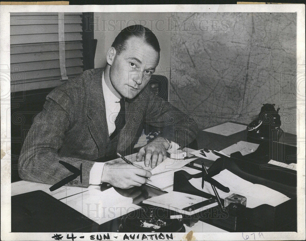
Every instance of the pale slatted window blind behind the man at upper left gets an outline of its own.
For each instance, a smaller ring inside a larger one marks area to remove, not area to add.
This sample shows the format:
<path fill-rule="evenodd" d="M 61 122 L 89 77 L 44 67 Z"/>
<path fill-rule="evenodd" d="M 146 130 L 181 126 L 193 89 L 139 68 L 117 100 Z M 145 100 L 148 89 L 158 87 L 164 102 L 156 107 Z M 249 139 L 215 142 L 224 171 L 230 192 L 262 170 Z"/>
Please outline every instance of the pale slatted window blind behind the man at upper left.
<path fill-rule="evenodd" d="M 82 13 L 64 13 L 68 78 L 83 72 Z M 58 13 L 11 13 L 11 84 L 61 80 Z M 20 80 L 18 80 L 20 82 Z"/>

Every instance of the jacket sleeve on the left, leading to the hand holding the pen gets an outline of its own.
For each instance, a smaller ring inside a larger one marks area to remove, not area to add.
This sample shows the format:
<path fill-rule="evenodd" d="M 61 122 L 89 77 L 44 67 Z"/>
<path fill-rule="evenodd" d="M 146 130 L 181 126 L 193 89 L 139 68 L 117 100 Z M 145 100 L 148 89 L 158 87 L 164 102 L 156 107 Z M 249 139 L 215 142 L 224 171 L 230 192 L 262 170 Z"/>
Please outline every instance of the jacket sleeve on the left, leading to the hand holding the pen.
<path fill-rule="evenodd" d="M 19 156 L 18 172 L 23 180 L 55 184 L 73 174 L 59 163 L 63 161 L 78 169 L 82 164 L 82 183 L 79 175 L 68 186 L 88 187 L 94 162 L 58 155 L 73 115 L 73 100 L 64 91 L 55 89 L 47 96 L 43 110 L 34 118 Z"/>

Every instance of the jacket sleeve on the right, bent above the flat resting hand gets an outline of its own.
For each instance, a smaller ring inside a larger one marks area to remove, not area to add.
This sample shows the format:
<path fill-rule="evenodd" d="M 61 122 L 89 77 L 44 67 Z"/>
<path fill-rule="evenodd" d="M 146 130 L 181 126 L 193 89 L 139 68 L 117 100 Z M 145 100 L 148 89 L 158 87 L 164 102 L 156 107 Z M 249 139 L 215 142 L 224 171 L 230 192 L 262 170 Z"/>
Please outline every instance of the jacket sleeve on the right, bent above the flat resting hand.
<path fill-rule="evenodd" d="M 193 112 L 183 113 L 168 101 L 150 96 L 149 90 L 142 95 L 146 101 L 146 115 L 144 122 L 159 128 L 161 137 L 187 146 L 196 139 L 198 134 L 197 116 Z"/>

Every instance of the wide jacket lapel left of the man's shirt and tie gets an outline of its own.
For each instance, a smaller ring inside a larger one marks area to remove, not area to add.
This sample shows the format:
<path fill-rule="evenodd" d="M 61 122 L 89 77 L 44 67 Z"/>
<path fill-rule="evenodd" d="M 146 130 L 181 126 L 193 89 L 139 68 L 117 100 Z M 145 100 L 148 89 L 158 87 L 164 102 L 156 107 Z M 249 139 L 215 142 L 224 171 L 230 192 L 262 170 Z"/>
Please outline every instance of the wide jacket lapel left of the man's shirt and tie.
<path fill-rule="evenodd" d="M 99 157 L 103 155 L 103 149 L 109 142 L 108 128 L 105 112 L 105 101 L 102 88 L 103 69 L 93 76 L 89 86 L 88 93 L 88 111 L 87 116 L 91 120 L 89 123 L 89 131 L 95 140 L 99 150 Z"/>

